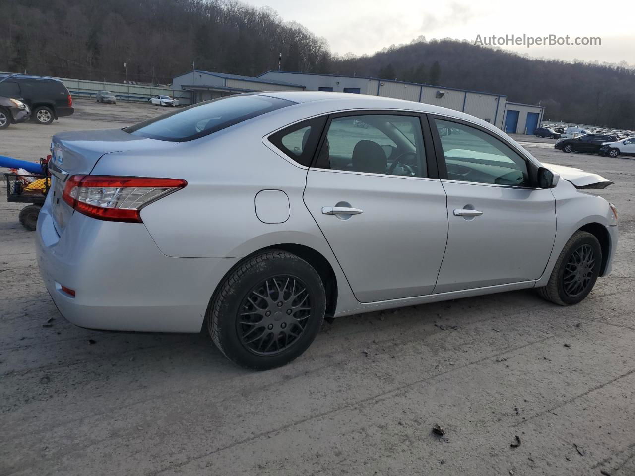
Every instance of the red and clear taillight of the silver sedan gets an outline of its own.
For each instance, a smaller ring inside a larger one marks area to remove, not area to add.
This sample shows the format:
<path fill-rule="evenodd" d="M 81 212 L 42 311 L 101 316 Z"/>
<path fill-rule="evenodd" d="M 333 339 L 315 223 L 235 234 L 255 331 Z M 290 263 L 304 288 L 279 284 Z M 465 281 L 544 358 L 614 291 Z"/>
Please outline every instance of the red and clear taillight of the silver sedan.
<path fill-rule="evenodd" d="M 100 220 L 142 223 L 140 211 L 187 185 L 177 178 L 73 175 L 62 199 L 72 208 Z"/>

